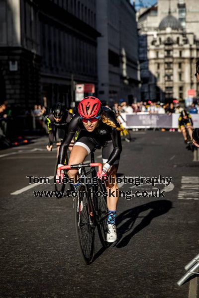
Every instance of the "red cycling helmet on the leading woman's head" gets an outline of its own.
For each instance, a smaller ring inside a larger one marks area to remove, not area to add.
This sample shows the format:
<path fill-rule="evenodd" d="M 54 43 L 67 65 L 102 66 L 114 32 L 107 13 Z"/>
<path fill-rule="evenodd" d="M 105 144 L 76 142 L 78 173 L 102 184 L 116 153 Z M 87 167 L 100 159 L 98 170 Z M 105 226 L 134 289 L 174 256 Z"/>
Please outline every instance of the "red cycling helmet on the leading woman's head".
<path fill-rule="evenodd" d="M 78 105 L 80 117 L 90 119 L 99 116 L 102 112 L 100 99 L 94 96 L 85 97 Z"/>

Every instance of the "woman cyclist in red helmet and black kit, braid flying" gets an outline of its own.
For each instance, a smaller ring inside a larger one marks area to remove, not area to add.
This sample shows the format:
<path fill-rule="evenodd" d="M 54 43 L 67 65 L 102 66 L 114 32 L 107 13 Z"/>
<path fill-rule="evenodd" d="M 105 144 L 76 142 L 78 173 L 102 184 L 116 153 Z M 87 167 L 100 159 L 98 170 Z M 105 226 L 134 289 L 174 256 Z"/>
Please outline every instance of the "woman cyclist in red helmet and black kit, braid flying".
<path fill-rule="evenodd" d="M 107 196 L 108 222 L 107 222 L 107 242 L 114 242 L 117 238 L 115 215 L 118 202 L 115 190 L 118 189 L 116 184 L 116 173 L 119 164 L 119 157 L 122 150 L 119 123 L 115 114 L 109 108 L 103 107 L 98 98 L 93 96 L 85 97 L 78 106 L 78 114 L 71 120 L 68 127 L 68 135 L 65 135 L 61 143 L 58 157 L 58 167 L 64 164 L 67 149 L 77 130 L 80 130 L 79 137 L 74 144 L 69 158 L 69 165 L 82 163 L 87 155 L 96 146 L 102 147 L 103 168 L 102 173 L 97 173 L 98 178 L 102 176 L 111 176 L 115 183 L 106 181 L 107 192 L 111 189 L 114 197 Z M 78 170 L 68 171 L 69 178 L 75 178 Z M 61 174 L 61 179 L 63 174 Z M 57 177 L 59 178 L 59 177 Z M 78 184 L 73 184 L 77 189 Z"/>

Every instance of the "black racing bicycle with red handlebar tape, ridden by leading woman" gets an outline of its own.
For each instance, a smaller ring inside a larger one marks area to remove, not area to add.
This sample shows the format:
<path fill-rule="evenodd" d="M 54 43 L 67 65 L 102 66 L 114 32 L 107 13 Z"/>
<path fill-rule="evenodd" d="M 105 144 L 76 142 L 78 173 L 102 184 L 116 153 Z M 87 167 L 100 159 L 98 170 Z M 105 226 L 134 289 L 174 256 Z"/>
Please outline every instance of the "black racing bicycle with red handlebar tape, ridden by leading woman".
<path fill-rule="evenodd" d="M 95 163 L 94 152 L 97 148 L 91 151 L 90 163 L 79 163 L 72 165 L 64 165 L 58 169 L 60 176 L 62 169 L 78 168 L 81 171 L 82 177 L 87 177 L 92 174 L 92 179 L 97 177 L 95 167 L 99 167 L 102 171 L 101 163 Z M 90 167 L 86 171 L 86 167 Z M 84 176 L 83 176 L 84 175 Z M 94 180 L 92 180 L 94 181 Z M 90 191 L 91 190 L 91 191 Z M 100 192 L 97 196 L 97 192 Z M 104 248 L 109 246 L 106 241 L 106 227 L 108 218 L 108 209 L 106 204 L 105 185 L 98 179 L 98 185 L 80 184 L 77 188 L 77 196 L 74 199 L 74 217 L 75 231 L 80 250 L 81 257 L 86 264 L 91 264 L 95 253 L 95 229 L 98 228 L 100 242 Z M 82 194 L 82 195 L 81 195 Z"/>

